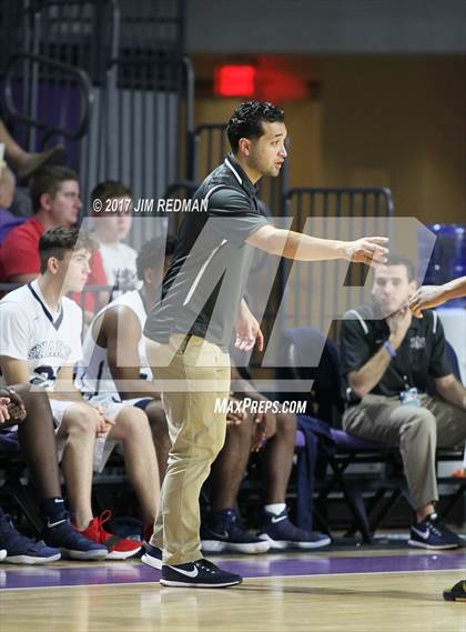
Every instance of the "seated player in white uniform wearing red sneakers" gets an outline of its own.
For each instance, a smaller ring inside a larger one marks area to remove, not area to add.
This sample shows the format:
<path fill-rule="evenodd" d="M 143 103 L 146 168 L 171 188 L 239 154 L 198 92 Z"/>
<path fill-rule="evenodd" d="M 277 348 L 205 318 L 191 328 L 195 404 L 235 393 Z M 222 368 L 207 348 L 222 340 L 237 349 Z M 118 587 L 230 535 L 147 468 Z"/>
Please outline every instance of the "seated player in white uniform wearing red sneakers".
<path fill-rule="evenodd" d="M 82 313 L 65 294 L 82 290 L 94 245 L 77 228 L 55 228 L 40 238 L 40 277 L 0 301 L 0 367 L 7 383 L 32 383 L 48 391 L 57 437 L 64 443 L 62 469 L 77 529 L 108 546 L 110 559 L 125 559 L 141 544 L 108 533 L 108 512 L 93 518 L 93 463 L 101 469 L 115 442 L 123 442 L 145 522 L 154 519 L 159 472 L 144 412 L 121 403 L 105 409 L 88 404 L 73 385 L 73 364 L 82 353 Z"/>

